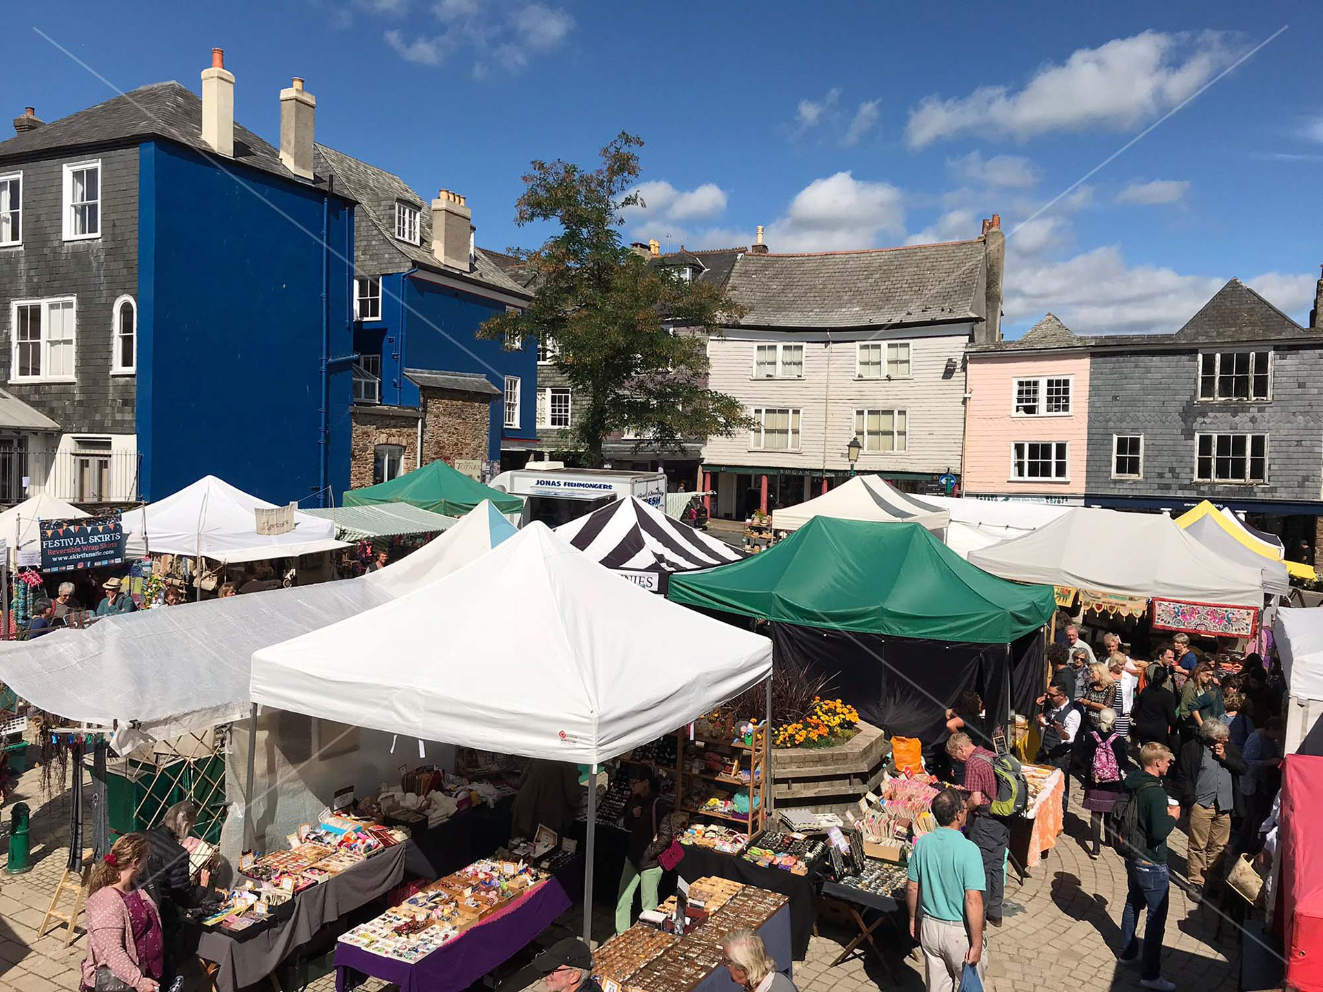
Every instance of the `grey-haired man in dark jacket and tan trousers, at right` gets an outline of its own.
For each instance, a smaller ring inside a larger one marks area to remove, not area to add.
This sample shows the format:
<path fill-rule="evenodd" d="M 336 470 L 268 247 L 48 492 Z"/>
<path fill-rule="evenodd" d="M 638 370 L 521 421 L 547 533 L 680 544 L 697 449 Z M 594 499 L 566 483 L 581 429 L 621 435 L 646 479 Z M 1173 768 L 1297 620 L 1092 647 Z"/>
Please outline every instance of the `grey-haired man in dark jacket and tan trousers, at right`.
<path fill-rule="evenodd" d="M 1205 720 L 1199 735 L 1180 749 L 1172 791 L 1189 808 L 1189 898 L 1204 898 L 1204 874 L 1217 862 L 1232 836 L 1232 815 L 1244 815 L 1240 776 L 1249 766 L 1220 720 Z"/>

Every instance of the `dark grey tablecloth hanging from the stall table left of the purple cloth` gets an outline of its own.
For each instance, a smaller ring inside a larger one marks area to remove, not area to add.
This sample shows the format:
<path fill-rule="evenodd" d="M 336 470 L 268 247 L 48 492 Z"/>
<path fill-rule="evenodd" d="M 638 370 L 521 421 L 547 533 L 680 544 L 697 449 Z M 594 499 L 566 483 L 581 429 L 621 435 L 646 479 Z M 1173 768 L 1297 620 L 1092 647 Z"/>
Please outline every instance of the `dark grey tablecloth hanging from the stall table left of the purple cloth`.
<path fill-rule="evenodd" d="M 405 845 L 397 844 L 294 899 L 294 915 L 246 940 L 220 931 L 205 931 L 197 954 L 216 962 L 217 992 L 235 992 L 254 985 L 283 962 L 294 948 L 312 939 L 321 927 L 385 895 L 405 877 Z"/>

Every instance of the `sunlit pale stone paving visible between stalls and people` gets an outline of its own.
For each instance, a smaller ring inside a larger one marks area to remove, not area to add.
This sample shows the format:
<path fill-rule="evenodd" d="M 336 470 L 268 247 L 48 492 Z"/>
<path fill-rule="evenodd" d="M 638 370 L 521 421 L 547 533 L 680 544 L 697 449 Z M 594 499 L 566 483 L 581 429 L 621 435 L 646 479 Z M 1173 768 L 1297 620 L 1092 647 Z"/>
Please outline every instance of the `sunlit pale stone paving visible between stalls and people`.
<path fill-rule="evenodd" d="M 0 992 L 73 992 L 78 988 L 78 966 L 86 954 L 81 931 L 67 950 L 62 930 L 60 936 L 36 939 L 67 857 L 67 798 L 42 803 L 38 774 L 28 772 L 13 798 L 19 800 L 34 809 L 34 868 L 21 876 L 0 874 Z M 1098 861 L 1089 860 L 1077 840 L 1084 836 L 1086 815 L 1081 817 L 1078 806 L 1072 809 L 1074 816 L 1066 817 L 1066 833 L 1033 876 L 1020 882 L 1012 872 L 1007 882 L 1005 925 L 990 931 L 988 989 L 1101 992 L 1139 988 L 1138 972 L 1119 966 L 1113 954 L 1125 905 L 1125 868 L 1110 850 L 1103 850 Z M 1185 865 L 1183 833 L 1172 835 L 1171 848 L 1174 873 L 1180 874 Z M 0 853 L 0 864 L 5 861 L 7 856 Z M 611 926 L 611 907 L 599 905 L 597 909 L 594 934 L 605 936 Z M 544 934 L 542 943 L 570 932 L 578 926 L 581 913 L 574 910 L 562 917 Z M 1163 973 L 1179 989 L 1234 992 L 1237 988 L 1240 935 L 1230 922 L 1224 923 L 1220 934 L 1217 925 L 1218 917 L 1212 907 L 1195 906 L 1180 890 L 1172 889 Z M 851 934 L 823 925 L 810 944 L 807 959 L 795 963 L 795 984 L 802 992 L 922 989 L 922 963 L 909 954 L 909 940 L 888 931 L 886 925 L 875 936 L 886 956 L 885 964 L 872 955 L 856 955 L 831 967 Z M 525 960 L 521 958 L 520 963 Z M 327 973 L 328 964 L 327 959 L 320 967 L 314 964 L 311 972 L 316 977 L 308 989 L 333 992 L 335 976 Z M 369 981 L 364 988 L 380 992 L 386 987 Z"/>

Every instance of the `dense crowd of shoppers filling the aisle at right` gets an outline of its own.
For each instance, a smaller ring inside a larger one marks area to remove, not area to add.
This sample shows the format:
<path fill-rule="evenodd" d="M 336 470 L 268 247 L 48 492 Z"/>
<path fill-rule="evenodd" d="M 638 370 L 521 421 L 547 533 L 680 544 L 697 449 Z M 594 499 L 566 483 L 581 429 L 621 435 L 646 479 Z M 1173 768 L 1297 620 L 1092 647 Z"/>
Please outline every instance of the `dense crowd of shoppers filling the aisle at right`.
<path fill-rule="evenodd" d="M 1072 779 L 1084 787 L 1089 857 L 1106 845 L 1126 862 L 1118 956 L 1140 967 L 1144 988 L 1171 989 L 1160 973 L 1167 836 L 1185 824 L 1184 889 L 1195 903 L 1224 877 L 1228 858 L 1259 850 L 1259 828 L 1281 788 L 1285 682 L 1254 653 L 1238 671 L 1221 671 L 1185 634 L 1159 644 L 1147 664 L 1114 634 L 1102 638 L 1099 653 L 1103 660 L 1090 661 L 1073 624 L 1048 647 L 1037 758 L 1061 768 L 1068 794 Z"/>

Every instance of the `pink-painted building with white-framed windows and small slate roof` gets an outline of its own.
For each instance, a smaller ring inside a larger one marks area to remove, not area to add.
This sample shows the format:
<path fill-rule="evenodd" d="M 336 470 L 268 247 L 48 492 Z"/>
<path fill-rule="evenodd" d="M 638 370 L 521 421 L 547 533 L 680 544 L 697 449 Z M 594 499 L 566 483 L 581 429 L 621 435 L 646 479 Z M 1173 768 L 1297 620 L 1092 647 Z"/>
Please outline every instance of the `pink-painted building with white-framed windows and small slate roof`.
<path fill-rule="evenodd" d="M 1052 313 L 1017 341 L 966 352 L 967 496 L 1077 503 L 1089 444 L 1089 352 Z M 1040 351 L 1043 349 L 1043 351 Z"/>

